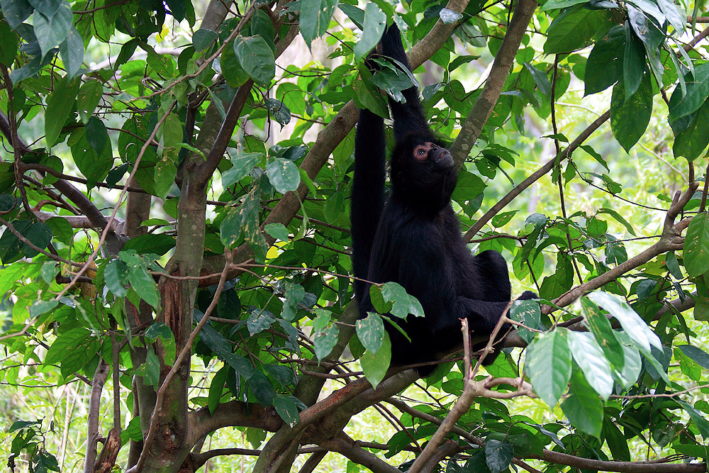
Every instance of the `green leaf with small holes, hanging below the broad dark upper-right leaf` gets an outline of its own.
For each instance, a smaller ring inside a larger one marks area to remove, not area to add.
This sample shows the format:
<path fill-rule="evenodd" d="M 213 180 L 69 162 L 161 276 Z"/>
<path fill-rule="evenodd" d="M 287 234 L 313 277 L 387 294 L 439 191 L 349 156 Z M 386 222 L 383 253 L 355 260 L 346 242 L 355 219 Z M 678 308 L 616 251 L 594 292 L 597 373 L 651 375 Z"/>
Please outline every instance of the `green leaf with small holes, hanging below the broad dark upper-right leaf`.
<path fill-rule="evenodd" d="M 652 116 L 652 83 L 649 74 L 644 74 L 635 94 L 626 99 L 625 86 L 618 82 L 613 87 L 610 100 L 610 128 L 626 152 L 630 152 L 645 132 Z"/>

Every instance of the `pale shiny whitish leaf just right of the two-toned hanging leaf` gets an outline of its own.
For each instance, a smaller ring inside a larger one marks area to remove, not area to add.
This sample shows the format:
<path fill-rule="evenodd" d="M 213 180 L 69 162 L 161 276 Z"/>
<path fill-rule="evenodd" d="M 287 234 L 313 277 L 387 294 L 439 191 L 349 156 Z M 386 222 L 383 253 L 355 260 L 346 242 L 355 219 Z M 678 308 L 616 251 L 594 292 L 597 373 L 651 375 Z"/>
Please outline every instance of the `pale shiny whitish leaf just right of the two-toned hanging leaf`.
<path fill-rule="evenodd" d="M 569 331 L 569 350 L 576 365 L 581 367 L 588 384 L 603 399 L 613 394 L 613 377 L 610 363 L 591 333 Z"/>

